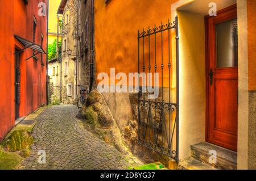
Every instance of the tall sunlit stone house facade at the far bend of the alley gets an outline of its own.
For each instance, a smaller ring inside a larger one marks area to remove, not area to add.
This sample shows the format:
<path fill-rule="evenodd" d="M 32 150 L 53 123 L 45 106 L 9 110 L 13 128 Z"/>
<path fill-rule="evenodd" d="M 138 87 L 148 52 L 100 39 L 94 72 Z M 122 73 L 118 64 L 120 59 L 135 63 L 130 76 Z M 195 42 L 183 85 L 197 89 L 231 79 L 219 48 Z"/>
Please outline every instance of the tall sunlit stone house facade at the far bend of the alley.
<path fill-rule="evenodd" d="M 63 0 L 57 14 L 63 15 L 61 51 L 61 102 L 73 104 L 77 97 L 77 0 Z"/>

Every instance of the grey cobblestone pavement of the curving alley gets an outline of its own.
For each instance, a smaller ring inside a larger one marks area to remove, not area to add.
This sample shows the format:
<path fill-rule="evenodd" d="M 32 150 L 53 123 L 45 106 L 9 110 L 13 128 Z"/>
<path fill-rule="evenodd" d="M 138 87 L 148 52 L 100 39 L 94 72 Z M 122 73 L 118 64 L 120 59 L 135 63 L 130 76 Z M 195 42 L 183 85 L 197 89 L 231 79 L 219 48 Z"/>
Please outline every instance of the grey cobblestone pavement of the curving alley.
<path fill-rule="evenodd" d="M 122 155 L 93 133 L 79 126 L 76 106 L 52 106 L 38 118 L 32 136 L 32 153 L 20 169 L 127 169 L 142 164 Z M 46 151 L 46 164 L 38 163 L 38 151 Z"/>

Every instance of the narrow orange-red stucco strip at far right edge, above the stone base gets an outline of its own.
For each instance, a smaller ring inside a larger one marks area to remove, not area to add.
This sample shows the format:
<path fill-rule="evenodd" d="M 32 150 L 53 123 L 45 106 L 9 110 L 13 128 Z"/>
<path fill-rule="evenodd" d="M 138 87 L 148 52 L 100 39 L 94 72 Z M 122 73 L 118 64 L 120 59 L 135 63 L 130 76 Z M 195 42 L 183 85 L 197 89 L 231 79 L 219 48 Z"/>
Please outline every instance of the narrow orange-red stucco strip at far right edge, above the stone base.
<path fill-rule="evenodd" d="M 256 1 L 247 0 L 249 90 L 256 91 Z"/>

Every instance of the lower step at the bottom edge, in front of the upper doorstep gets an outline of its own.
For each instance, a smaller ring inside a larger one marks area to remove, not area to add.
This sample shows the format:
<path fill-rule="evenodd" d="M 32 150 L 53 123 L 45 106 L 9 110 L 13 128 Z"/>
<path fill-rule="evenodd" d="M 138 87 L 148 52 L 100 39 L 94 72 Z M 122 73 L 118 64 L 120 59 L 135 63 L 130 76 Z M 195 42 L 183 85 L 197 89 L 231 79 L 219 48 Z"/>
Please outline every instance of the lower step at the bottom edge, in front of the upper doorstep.
<path fill-rule="evenodd" d="M 200 162 L 198 159 L 189 157 L 179 162 L 177 169 L 180 170 L 216 170 L 215 167 Z"/>

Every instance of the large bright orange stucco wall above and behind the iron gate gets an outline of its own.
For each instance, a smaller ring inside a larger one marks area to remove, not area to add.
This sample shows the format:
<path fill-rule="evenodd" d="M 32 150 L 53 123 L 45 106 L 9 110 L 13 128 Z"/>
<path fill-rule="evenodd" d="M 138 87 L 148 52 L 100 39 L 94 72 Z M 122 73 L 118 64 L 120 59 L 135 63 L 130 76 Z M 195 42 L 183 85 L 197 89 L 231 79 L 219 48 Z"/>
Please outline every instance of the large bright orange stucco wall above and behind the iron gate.
<path fill-rule="evenodd" d="M 134 73 L 138 71 L 138 30 L 150 26 L 159 26 L 161 21 L 171 19 L 171 5 L 176 0 L 105 0 L 95 1 L 95 48 L 96 75 L 115 73 Z M 168 34 L 164 35 L 164 75 L 168 72 Z M 157 37 L 160 46 L 160 37 Z M 148 40 L 145 39 L 145 54 L 148 52 Z M 142 45 L 142 40 L 141 40 Z M 151 39 L 151 50 L 154 50 L 154 37 Z M 154 71 L 154 51 L 151 52 L 151 72 Z M 142 47 L 141 47 L 142 58 Z M 145 57 L 148 62 L 148 57 Z M 158 52 L 158 72 L 160 72 L 160 52 Z M 142 62 L 141 62 L 142 64 Z M 142 68 L 142 66 L 141 66 Z M 148 70 L 148 65 L 146 65 Z M 161 76 L 160 76 L 161 77 Z"/>

